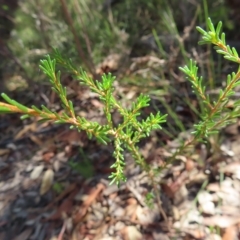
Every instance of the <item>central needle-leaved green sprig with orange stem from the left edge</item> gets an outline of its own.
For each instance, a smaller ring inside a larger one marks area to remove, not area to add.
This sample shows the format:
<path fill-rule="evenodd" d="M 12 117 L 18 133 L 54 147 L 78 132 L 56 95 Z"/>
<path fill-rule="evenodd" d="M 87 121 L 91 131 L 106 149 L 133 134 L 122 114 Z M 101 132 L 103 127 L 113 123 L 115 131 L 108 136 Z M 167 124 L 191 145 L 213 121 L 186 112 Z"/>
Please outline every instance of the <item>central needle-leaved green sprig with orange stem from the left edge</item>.
<path fill-rule="evenodd" d="M 45 106 L 37 108 L 25 107 L 20 103 L 10 99 L 6 94 L 2 97 L 8 103 L 0 103 L 1 112 L 19 112 L 22 113 L 22 118 L 30 116 L 40 116 L 42 121 L 54 121 L 55 123 L 69 123 L 71 128 L 77 128 L 79 131 L 85 131 L 89 138 L 95 137 L 99 142 L 107 144 L 112 139 L 114 141 L 114 157 L 115 163 L 111 166 L 114 172 L 110 176 L 111 183 L 119 184 L 125 181 L 124 176 L 124 151 L 128 150 L 135 161 L 141 167 L 149 171 L 147 164 L 139 153 L 137 143 L 144 137 L 148 136 L 152 130 L 161 129 L 161 123 L 165 122 L 166 115 L 161 115 L 159 112 L 156 115 L 150 114 L 145 120 L 139 120 L 140 111 L 142 108 L 149 105 L 149 96 L 140 95 L 135 102 L 132 103 L 130 109 L 125 109 L 121 103 L 116 100 L 113 95 L 114 77 L 111 74 L 103 75 L 102 81 L 94 81 L 82 69 L 74 67 L 71 61 L 64 60 L 59 51 L 55 51 L 55 57 L 52 59 L 49 55 L 46 59 L 41 60 L 40 68 L 49 78 L 52 85 L 52 90 L 59 96 L 63 111 L 61 114 L 52 112 Z M 99 99 L 104 104 L 104 113 L 107 119 L 106 125 L 100 125 L 98 122 L 88 121 L 84 117 L 76 116 L 73 103 L 67 98 L 66 88 L 60 82 L 60 71 L 56 70 L 56 64 L 64 67 L 71 72 L 75 78 L 83 85 L 88 86 L 91 91 L 99 96 Z M 122 123 L 114 126 L 112 120 L 113 111 L 117 110 L 123 117 Z"/>

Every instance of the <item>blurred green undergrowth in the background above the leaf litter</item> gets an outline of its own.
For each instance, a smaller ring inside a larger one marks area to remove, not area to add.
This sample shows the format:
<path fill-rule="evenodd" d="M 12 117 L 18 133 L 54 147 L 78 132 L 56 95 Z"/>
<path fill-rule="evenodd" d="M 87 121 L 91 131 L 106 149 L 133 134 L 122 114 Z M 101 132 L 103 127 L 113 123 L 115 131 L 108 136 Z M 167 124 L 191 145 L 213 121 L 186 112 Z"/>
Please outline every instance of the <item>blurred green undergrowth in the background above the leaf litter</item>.
<path fill-rule="evenodd" d="M 75 63 L 86 67 L 85 58 L 79 58 L 70 30 L 72 27 L 84 55 L 91 57 L 94 64 L 98 64 L 109 53 L 126 51 L 142 36 L 151 34 L 153 29 L 156 35 L 175 35 L 178 34 L 175 29 L 178 26 L 181 35 L 185 25 L 193 19 L 196 10 L 195 4 L 176 0 L 124 0 L 118 1 L 118 4 L 114 4 L 109 11 L 102 9 L 106 0 L 65 0 L 65 2 L 72 17 L 72 26 L 65 20 L 61 1 L 39 0 L 37 4 L 35 1 L 19 3 L 14 18 L 14 29 L 8 41 L 8 47 L 18 60 L 18 64 L 16 65 L 14 59 L 8 59 L 4 71 L 7 72 L 9 69 L 12 72 L 14 69 L 15 74 L 20 74 L 27 81 L 43 80 L 44 76 L 36 75 L 34 69 L 41 56 L 49 52 L 51 47 L 58 48 L 64 56 L 71 56 Z M 182 6 L 179 8 L 180 4 Z M 208 1 L 207 4 L 214 22 L 225 19 L 231 23 L 223 1 L 218 3 Z M 199 24 L 204 22 L 202 5 L 198 14 Z M 7 8 L 5 5 L 2 7 Z M 186 10 L 187 14 L 184 14 Z M 181 51 L 183 52 L 182 47 Z"/>

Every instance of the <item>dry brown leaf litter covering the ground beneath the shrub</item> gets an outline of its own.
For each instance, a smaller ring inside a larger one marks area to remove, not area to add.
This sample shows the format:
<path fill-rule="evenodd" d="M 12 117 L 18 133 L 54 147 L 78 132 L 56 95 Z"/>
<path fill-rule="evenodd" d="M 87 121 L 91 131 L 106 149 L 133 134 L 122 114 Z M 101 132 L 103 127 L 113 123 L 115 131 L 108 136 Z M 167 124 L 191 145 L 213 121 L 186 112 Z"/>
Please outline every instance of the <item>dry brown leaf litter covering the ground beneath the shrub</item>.
<path fill-rule="evenodd" d="M 101 69 L 113 68 L 113 63 L 108 64 Z M 142 64 L 149 67 L 162 62 L 155 57 L 132 61 L 125 73 L 133 82 L 138 81 L 134 80 L 136 72 L 148 71 Z M 63 81 L 77 106 L 76 113 L 103 122 L 102 103 L 96 95 L 70 78 Z M 129 84 L 129 80 L 126 84 L 118 78 L 116 95 L 128 106 L 151 85 L 141 84 Z M 164 81 L 160 86 L 153 84 L 152 89 L 160 91 L 164 84 Z M 156 95 L 150 96 L 152 102 L 144 114 L 156 109 L 164 111 Z M 29 94 L 18 92 L 15 98 L 26 105 L 44 103 L 56 111 L 60 109 L 59 101 L 47 86 L 35 86 Z M 192 110 L 181 105 L 179 96 L 174 98 L 171 94 L 165 96 L 166 102 L 174 105 L 180 122 L 191 126 Z M 189 99 L 196 104 L 194 97 Z M 114 119 L 118 122 L 119 116 L 115 114 Z M 177 156 L 173 164 L 159 173 L 156 181 L 167 216 L 164 219 L 156 202 L 147 201 L 152 193 L 149 178 L 127 152 L 128 180 L 119 188 L 110 186 L 112 145 L 100 145 L 69 126 L 37 120 L 21 121 L 16 114 L 0 116 L 0 239 L 240 239 L 238 122 L 210 138 L 209 146 L 198 144 Z M 179 131 L 174 120 L 169 121 L 173 127 L 168 130 L 175 131 L 172 136 L 153 132 L 140 143 L 142 155 L 153 167 L 162 166 L 180 141 L 191 134 L 191 127 Z"/>

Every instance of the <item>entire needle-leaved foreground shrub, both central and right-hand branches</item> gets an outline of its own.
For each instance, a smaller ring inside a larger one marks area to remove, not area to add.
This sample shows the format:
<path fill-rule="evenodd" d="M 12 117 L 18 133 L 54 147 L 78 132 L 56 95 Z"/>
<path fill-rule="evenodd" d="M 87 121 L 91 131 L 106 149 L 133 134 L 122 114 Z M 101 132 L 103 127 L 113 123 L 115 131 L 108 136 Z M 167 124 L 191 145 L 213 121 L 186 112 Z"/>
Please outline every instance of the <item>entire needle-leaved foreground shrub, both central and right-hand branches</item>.
<path fill-rule="evenodd" d="M 209 31 L 197 27 L 197 30 L 203 35 L 200 44 L 211 43 L 215 45 L 216 51 L 219 54 L 222 54 L 227 60 L 239 64 L 240 59 L 237 51 L 226 45 L 225 35 L 224 33 L 220 33 L 221 26 L 222 23 L 220 22 L 217 28 L 215 28 L 211 20 L 208 19 Z M 56 69 L 57 65 L 66 69 L 80 84 L 89 87 L 92 92 L 98 95 L 104 105 L 106 124 L 101 125 L 98 122 L 91 122 L 84 117 L 76 116 L 73 102 L 68 100 L 66 88 L 61 84 L 61 73 Z M 52 57 L 48 55 L 46 59 L 41 60 L 40 68 L 49 78 L 52 90 L 59 96 L 63 111 L 61 113 L 52 112 L 45 106 L 41 106 L 41 108 L 37 108 L 36 106 L 28 108 L 10 99 L 6 94 L 2 94 L 7 103 L 0 102 L 0 112 L 17 112 L 22 114 L 22 118 L 39 116 L 42 121 L 51 120 L 59 124 L 68 123 L 71 125 L 71 128 L 76 128 L 78 131 L 85 131 L 89 138 L 95 137 L 103 144 L 113 141 L 115 163 L 111 166 L 114 169 L 110 176 L 111 183 L 119 185 L 121 181 L 126 181 L 124 175 L 124 153 L 128 150 L 136 163 L 149 174 L 149 178 L 154 185 L 154 172 L 140 154 L 138 143 L 142 138 L 149 136 L 151 131 L 161 129 L 161 124 L 166 122 L 167 116 L 159 112 L 156 115 L 151 113 L 145 120 L 140 120 L 142 119 L 142 108 L 149 105 L 149 96 L 141 94 L 129 109 L 124 108 L 121 102 L 114 97 L 114 77 L 111 74 L 103 75 L 101 81 L 95 81 L 82 69 L 76 68 L 72 61 L 65 60 L 58 50 L 54 51 Z M 195 62 L 190 60 L 188 66 L 180 68 L 180 70 L 187 75 L 188 80 L 192 84 L 193 91 L 203 102 L 204 111 L 201 114 L 200 122 L 194 125 L 193 137 L 179 147 L 178 151 L 173 154 L 166 164 L 174 160 L 175 156 L 185 150 L 188 145 L 196 141 L 203 141 L 210 134 L 218 132 L 219 129 L 240 116 L 239 100 L 235 102 L 232 109 L 228 107 L 229 100 L 235 93 L 234 88 L 240 85 L 240 68 L 237 73 L 232 73 L 227 77 L 225 88 L 219 92 L 217 99 L 214 101 L 206 94 L 203 78 L 198 77 L 198 67 Z M 119 112 L 122 116 L 122 122 L 117 126 L 113 122 L 114 111 Z M 151 198 L 151 195 L 147 197 L 148 200 L 151 200 Z"/>

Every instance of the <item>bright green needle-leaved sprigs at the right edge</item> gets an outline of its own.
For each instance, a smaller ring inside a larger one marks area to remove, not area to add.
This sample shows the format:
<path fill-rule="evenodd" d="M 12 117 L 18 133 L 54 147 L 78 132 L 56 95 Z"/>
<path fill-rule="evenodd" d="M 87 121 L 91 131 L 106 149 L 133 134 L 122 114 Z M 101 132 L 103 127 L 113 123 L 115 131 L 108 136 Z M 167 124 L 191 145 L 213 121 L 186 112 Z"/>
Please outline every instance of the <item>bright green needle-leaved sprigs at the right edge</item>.
<path fill-rule="evenodd" d="M 203 35 L 199 44 L 213 44 L 217 53 L 222 54 L 225 59 L 240 63 L 240 58 L 235 48 L 226 45 L 225 34 L 221 33 L 222 22 L 219 22 L 215 28 L 211 19 L 207 21 L 209 31 L 205 31 L 200 27 L 197 30 Z M 199 96 L 205 105 L 204 112 L 201 115 L 202 120 L 196 124 L 193 132 L 195 139 L 202 140 L 210 134 L 217 133 L 219 129 L 228 125 L 240 116 L 239 103 L 236 101 L 230 109 L 228 103 L 230 97 L 235 94 L 234 88 L 240 85 L 240 68 L 237 73 L 227 76 L 226 86 L 219 91 L 217 100 L 212 101 L 206 94 L 206 87 L 202 77 L 198 77 L 198 67 L 195 62 L 190 60 L 188 66 L 180 68 L 192 84 L 193 91 Z"/>

